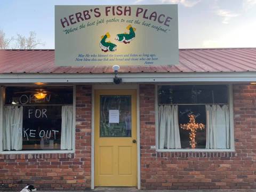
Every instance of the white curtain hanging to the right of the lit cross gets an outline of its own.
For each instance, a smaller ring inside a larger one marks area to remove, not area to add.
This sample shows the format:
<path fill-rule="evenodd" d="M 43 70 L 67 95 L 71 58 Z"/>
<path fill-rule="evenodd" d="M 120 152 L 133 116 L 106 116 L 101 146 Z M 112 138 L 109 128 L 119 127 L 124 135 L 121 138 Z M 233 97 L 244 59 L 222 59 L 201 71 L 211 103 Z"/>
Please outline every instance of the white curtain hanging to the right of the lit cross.
<path fill-rule="evenodd" d="M 206 149 L 229 149 L 230 126 L 227 105 L 206 105 Z"/>

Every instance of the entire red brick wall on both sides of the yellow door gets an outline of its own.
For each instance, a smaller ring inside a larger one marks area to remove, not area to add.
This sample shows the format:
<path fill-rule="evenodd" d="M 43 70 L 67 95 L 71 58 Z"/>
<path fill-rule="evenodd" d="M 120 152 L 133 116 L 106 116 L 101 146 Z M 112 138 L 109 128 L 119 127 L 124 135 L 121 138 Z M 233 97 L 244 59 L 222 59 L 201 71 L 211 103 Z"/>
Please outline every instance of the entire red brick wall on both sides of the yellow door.
<path fill-rule="evenodd" d="M 154 85 L 140 85 L 142 189 L 255 189 L 256 86 L 234 85 L 235 153 L 156 153 Z M 91 86 L 77 86 L 75 154 L 0 155 L 0 190 L 91 183 Z M 3 185 L 2 185 L 3 184 Z"/>

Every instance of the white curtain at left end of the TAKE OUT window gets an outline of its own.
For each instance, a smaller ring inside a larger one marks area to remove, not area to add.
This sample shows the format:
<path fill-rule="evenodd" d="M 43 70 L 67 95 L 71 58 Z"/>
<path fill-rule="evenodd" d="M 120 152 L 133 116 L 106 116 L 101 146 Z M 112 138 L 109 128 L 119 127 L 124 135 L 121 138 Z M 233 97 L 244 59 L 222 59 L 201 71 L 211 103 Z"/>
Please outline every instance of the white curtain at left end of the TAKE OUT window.
<path fill-rule="evenodd" d="M 6 106 L 3 117 L 3 149 L 21 150 L 23 107 Z"/>

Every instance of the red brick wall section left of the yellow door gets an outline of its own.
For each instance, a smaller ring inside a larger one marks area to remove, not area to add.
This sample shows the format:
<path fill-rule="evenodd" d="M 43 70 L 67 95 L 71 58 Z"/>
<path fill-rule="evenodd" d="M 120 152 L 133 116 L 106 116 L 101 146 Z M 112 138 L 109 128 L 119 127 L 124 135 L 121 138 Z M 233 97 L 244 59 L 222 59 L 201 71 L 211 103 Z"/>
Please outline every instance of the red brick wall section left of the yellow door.
<path fill-rule="evenodd" d="M 91 185 L 91 86 L 76 87 L 75 154 L 0 155 L 0 191 L 84 190 Z"/>

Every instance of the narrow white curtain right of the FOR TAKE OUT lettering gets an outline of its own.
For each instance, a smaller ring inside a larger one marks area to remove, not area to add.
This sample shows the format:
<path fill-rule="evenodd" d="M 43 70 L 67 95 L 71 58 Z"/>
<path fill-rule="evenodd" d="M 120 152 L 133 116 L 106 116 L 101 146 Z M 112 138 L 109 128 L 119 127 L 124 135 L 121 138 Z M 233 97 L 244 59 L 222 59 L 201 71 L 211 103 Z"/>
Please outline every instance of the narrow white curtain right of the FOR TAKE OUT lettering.
<path fill-rule="evenodd" d="M 60 149 L 72 149 L 73 106 L 62 106 L 61 109 L 61 142 Z"/>

